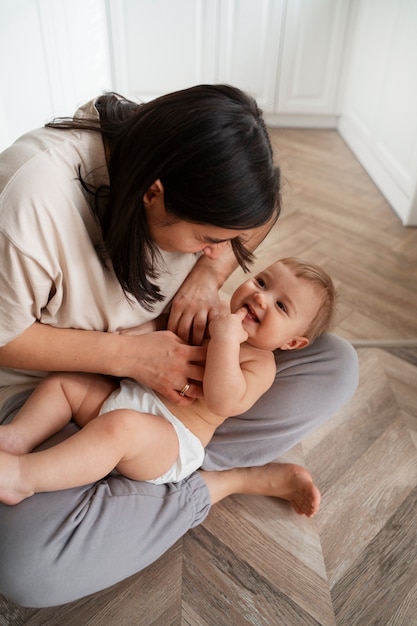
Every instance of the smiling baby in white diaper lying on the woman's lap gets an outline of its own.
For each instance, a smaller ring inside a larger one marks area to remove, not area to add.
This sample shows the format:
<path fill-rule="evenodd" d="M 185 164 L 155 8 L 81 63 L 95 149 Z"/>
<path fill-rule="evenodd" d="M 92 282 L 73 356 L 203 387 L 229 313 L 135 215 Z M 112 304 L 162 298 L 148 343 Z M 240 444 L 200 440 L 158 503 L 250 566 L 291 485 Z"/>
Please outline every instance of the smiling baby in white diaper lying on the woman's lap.
<path fill-rule="evenodd" d="M 272 385 L 273 351 L 300 350 L 314 341 L 329 329 L 334 304 L 330 277 L 299 259 L 280 259 L 246 280 L 233 293 L 230 311 L 209 323 L 203 397 L 187 406 L 131 379 L 48 375 L 14 421 L 0 426 L 0 501 L 17 504 L 41 491 L 85 485 L 113 469 L 154 483 L 184 479 L 201 467 L 216 428 L 247 411 Z M 71 419 L 81 427 L 78 433 L 30 453 Z M 297 475 L 302 484 L 289 490 L 283 478 L 276 495 L 311 516 L 318 489 L 307 470 L 300 467 Z"/>

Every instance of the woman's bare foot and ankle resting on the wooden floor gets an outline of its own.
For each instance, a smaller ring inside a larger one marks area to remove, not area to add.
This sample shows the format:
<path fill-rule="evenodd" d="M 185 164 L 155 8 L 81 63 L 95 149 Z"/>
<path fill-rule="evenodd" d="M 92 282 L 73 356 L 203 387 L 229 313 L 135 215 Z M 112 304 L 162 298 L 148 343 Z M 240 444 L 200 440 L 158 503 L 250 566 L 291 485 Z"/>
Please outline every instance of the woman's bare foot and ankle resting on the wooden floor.
<path fill-rule="evenodd" d="M 273 496 L 291 502 L 299 515 L 313 517 L 321 495 L 305 467 L 293 463 L 268 463 L 261 467 L 240 467 L 219 472 L 202 471 L 211 503 L 232 494 Z"/>

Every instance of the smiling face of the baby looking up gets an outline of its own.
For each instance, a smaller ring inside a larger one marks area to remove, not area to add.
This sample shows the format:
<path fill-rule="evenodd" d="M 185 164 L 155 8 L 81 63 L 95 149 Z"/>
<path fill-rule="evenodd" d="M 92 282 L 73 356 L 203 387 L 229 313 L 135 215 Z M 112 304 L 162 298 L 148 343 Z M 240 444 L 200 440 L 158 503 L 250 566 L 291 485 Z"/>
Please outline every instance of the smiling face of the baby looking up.
<path fill-rule="evenodd" d="M 231 299 L 232 312 L 248 311 L 242 324 L 248 343 L 264 350 L 302 347 L 294 343 L 303 338 L 320 306 L 317 288 L 295 276 L 277 261 L 236 289 Z"/>

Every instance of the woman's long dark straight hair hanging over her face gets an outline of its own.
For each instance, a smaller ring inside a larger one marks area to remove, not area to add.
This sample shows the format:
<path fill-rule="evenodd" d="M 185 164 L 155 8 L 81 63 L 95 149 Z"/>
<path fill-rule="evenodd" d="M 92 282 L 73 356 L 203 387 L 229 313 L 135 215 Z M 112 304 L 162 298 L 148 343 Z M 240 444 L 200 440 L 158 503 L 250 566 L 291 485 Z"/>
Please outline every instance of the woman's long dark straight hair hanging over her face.
<path fill-rule="evenodd" d="M 143 204 L 157 179 L 166 211 L 180 220 L 249 230 L 278 219 L 279 169 L 261 111 L 244 92 L 198 85 L 145 104 L 111 93 L 96 107 L 99 122 L 56 120 L 48 126 L 101 131 L 110 148 L 110 187 L 105 202 L 103 189 L 94 190 L 95 212 L 122 288 L 146 308 L 163 299 L 152 283 L 158 249 Z M 247 269 L 251 253 L 239 238 L 231 245 Z"/>

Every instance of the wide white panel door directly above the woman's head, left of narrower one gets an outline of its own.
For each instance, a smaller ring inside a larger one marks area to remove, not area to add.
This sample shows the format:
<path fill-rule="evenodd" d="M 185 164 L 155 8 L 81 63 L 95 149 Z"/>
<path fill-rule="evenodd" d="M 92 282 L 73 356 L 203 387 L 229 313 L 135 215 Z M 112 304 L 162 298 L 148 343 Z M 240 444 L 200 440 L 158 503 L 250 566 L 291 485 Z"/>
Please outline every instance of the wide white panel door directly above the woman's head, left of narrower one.
<path fill-rule="evenodd" d="M 215 82 L 217 2 L 108 0 L 116 90 L 150 100 Z"/>

